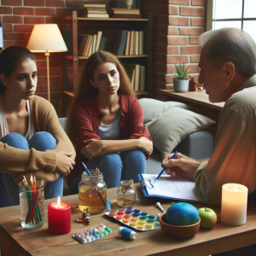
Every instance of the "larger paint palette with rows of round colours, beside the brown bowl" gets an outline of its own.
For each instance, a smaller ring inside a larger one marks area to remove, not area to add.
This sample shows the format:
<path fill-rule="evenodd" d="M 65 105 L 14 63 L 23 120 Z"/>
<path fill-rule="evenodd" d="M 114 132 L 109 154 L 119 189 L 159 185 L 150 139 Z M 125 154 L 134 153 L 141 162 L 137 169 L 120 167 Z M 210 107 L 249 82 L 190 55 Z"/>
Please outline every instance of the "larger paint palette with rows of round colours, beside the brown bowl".
<path fill-rule="evenodd" d="M 106 212 L 105 215 L 117 219 L 119 222 L 140 231 L 160 229 L 159 215 L 149 215 L 147 212 L 127 207 L 113 212 Z"/>

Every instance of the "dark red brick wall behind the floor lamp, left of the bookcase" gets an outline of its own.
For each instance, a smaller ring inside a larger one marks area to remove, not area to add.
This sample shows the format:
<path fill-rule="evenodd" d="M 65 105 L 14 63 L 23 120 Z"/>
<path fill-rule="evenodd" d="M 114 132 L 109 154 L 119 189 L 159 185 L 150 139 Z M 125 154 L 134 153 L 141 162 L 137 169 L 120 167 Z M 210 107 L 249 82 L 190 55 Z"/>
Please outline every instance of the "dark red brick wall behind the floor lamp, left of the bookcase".
<path fill-rule="evenodd" d="M 101 0 L 113 7 L 114 0 Z M 72 15 L 74 9 L 79 13 L 83 3 L 98 3 L 96 0 L 0 0 L 0 22 L 3 22 L 4 47 L 21 45 L 26 47 L 34 24 L 59 23 L 59 15 Z M 37 95 L 47 99 L 47 71 L 44 54 L 35 54 L 38 61 Z M 49 56 L 50 96 L 57 113 L 61 116 L 61 54 Z"/>

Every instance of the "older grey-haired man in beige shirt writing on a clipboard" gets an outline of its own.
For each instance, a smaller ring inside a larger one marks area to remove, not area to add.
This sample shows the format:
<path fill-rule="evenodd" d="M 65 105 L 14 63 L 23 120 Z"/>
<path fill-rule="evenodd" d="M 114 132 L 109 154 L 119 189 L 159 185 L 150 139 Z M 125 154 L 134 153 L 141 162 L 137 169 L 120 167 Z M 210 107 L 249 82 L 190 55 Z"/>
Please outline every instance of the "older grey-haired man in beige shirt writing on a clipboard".
<path fill-rule="evenodd" d="M 220 113 L 212 157 L 208 161 L 166 155 L 162 166 L 171 176 L 195 180 L 207 204 L 221 203 L 224 183 L 256 189 L 256 46 L 247 32 L 223 28 L 200 37 L 201 72 L 210 102 L 225 102 Z"/>

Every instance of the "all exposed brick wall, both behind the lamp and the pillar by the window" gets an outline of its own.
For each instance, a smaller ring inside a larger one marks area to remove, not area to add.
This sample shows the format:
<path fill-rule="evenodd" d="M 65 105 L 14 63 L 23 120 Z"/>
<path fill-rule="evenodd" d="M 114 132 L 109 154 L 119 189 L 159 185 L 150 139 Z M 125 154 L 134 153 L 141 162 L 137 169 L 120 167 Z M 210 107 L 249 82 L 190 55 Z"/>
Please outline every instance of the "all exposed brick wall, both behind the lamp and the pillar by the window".
<path fill-rule="evenodd" d="M 107 3 L 113 7 L 115 0 L 90 0 L 88 3 Z M 137 0 L 139 1 L 139 0 Z M 197 79 L 201 48 L 198 36 L 206 28 L 207 0 L 142 0 L 143 12 L 154 12 L 154 96 L 164 98 L 159 89 L 172 88 L 174 63 L 190 65 Z M 34 24 L 57 23 L 59 15 L 72 15 L 73 9 L 83 12 L 84 0 L 0 0 L 0 22 L 3 22 L 4 46 L 26 47 Z M 68 27 L 70 29 L 70 27 Z M 35 54 L 38 60 L 38 96 L 47 98 L 46 59 Z M 79 71 L 84 65 L 79 61 Z M 68 62 L 72 76 L 72 61 Z M 51 102 L 61 116 L 61 54 L 49 56 Z"/>

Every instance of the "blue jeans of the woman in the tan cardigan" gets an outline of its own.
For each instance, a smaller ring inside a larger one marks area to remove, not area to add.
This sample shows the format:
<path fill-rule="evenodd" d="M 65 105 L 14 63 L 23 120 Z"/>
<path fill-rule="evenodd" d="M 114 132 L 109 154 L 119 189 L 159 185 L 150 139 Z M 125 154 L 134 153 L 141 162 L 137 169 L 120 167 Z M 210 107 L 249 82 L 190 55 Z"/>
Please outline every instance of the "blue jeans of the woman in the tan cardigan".
<path fill-rule="evenodd" d="M 19 133 L 9 133 L 0 139 L 1 143 L 6 143 L 10 147 L 29 150 L 35 148 L 38 151 L 52 150 L 56 147 L 56 140 L 46 131 L 35 133 L 30 142 Z M 55 198 L 63 193 L 63 179 L 61 175 L 55 182 L 47 183 L 44 188 L 44 198 Z M 21 180 L 20 180 L 21 181 Z M 9 207 L 20 204 L 19 187 L 14 179 L 5 172 L 0 172 L 0 207 Z"/>

